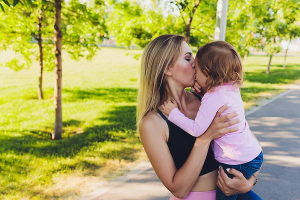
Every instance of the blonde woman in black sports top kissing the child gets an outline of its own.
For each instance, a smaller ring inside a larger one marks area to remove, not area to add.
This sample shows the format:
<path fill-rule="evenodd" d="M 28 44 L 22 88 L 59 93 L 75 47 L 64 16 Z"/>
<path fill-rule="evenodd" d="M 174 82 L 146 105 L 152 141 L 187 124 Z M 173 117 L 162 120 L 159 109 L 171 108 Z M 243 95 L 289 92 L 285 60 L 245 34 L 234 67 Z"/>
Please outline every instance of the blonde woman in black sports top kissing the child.
<path fill-rule="evenodd" d="M 229 120 L 238 115 L 236 112 L 219 117 L 230 105 L 218 110 L 199 137 L 189 135 L 161 112 L 160 105 L 171 99 L 185 116 L 194 119 L 201 98 L 185 90 L 194 84 L 194 58 L 184 37 L 166 34 L 149 42 L 141 58 L 136 119 L 153 169 L 172 193 L 170 199 L 215 200 L 216 186 L 226 195 L 245 193 L 255 182 L 254 176 L 246 179 L 241 172 L 230 169 L 228 172 L 235 176 L 231 179 L 222 168 L 218 174 L 210 147 L 213 139 L 237 130 L 227 128 L 239 122 Z"/>

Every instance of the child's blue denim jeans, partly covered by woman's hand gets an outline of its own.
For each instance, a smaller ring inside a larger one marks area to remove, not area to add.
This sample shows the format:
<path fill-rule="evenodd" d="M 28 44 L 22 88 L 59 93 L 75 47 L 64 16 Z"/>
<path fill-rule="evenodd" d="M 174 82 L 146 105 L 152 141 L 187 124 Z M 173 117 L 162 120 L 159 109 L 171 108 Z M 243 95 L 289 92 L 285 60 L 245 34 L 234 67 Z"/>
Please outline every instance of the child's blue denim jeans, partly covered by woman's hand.
<path fill-rule="evenodd" d="M 263 161 L 263 155 L 262 152 L 259 153 L 257 157 L 252 159 L 251 161 L 243 164 L 238 164 L 238 165 L 230 165 L 230 164 L 224 164 L 224 163 L 219 163 L 225 173 L 228 175 L 228 177 L 232 178 L 234 175 L 230 174 L 227 172 L 226 168 L 234 168 L 245 176 L 245 178 L 251 177 L 253 173 L 258 171 L 260 169 L 260 166 Z M 230 196 L 226 196 L 218 187 L 216 188 L 216 200 L 235 200 L 235 199 L 243 199 L 243 200 L 261 200 L 261 198 L 253 191 L 248 191 L 246 193 L 242 194 L 234 194 Z"/>

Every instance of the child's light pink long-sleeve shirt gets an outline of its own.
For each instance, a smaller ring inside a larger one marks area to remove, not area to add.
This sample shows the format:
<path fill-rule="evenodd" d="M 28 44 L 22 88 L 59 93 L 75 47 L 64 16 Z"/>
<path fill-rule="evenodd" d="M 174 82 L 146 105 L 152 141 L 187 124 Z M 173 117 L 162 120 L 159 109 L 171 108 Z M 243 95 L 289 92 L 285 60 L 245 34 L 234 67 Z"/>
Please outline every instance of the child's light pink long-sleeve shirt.
<path fill-rule="evenodd" d="M 260 145 L 253 137 L 245 119 L 243 103 L 239 88 L 228 83 L 217 86 L 214 91 L 204 94 L 195 120 L 189 119 L 179 111 L 172 109 L 168 120 L 193 136 L 203 134 L 212 122 L 217 110 L 224 104 L 230 103 L 230 107 L 223 111 L 220 116 L 230 112 L 239 112 L 237 117 L 241 121 L 231 127 L 239 127 L 238 131 L 224 134 L 214 139 L 211 143 L 214 158 L 225 164 L 242 164 L 254 159 L 261 151 Z"/>

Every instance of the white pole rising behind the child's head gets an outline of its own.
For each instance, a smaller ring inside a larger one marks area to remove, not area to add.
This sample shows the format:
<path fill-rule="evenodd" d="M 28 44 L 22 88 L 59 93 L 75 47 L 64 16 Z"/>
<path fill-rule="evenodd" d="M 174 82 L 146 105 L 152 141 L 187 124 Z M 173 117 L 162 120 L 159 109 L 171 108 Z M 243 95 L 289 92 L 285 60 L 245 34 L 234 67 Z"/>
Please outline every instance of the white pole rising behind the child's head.
<path fill-rule="evenodd" d="M 218 0 L 216 5 L 216 22 L 214 40 L 225 40 L 228 0 Z"/>

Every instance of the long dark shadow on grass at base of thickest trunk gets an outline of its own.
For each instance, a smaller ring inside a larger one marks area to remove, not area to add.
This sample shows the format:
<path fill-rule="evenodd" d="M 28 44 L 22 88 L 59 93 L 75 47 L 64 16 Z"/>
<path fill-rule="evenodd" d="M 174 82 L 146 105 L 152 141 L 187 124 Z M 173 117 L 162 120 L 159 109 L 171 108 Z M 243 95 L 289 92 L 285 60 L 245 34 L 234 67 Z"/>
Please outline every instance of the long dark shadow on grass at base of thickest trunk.
<path fill-rule="evenodd" d="M 124 131 L 128 134 L 135 130 L 135 106 L 115 107 L 114 110 L 106 113 L 106 116 L 107 117 L 102 119 L 110 122 L 109 124 L 87 127 L 80 134 L 60 140 L 45 140 L 35 135 L 43 131 L 23 130 L 22 136 L 7 136 L 1 138 L 0 152 L 11 151 L 16 154 L 29 153 L 37 157 L 72 157 L 83 147 L 90 146 L 94 142 L 119 141 L 123 139 L 122 137 L 112 135 L 110 133 L 111 131 Z M 80 125 L 80 121 L 69 120 L 63 124 Z M 17 130 L 11 130 L 11 132 L 16 131 Z M 49 135 L 49 133 L 45 131 L 43 134 Z"/>

